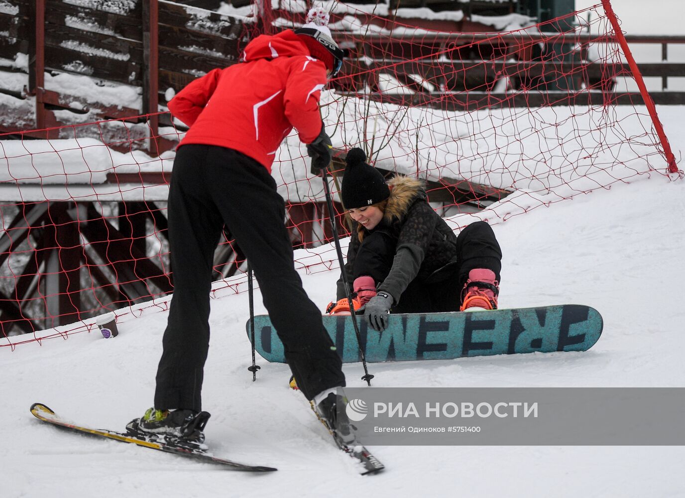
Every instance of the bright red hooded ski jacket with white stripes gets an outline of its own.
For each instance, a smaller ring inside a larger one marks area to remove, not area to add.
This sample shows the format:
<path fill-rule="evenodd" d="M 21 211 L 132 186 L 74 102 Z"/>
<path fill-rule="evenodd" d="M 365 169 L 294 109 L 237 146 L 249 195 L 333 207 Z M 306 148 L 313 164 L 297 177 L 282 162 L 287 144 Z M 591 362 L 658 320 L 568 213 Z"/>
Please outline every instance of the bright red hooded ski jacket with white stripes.
<path fill-rule="evenodd" d="M 169 101 L 169 110 L 190 127 L 179 146 L 220 145 L 271 172 L 275 153 L 293 127 L 304 143 L 319 136 L 326 67 L 289 29 L 258 36 L 240 60 L 188 84 Z"/>

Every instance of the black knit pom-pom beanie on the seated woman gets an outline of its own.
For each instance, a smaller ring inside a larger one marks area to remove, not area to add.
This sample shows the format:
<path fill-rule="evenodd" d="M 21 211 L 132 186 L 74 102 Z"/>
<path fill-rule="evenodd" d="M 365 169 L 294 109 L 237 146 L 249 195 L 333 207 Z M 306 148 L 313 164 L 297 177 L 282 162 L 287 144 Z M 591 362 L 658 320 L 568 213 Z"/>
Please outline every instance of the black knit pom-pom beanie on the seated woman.
<path fill-rule="evenodd" d="M 350 149 L 346 161 L 343 186 L 340 187 L 345 209 L 371 206 L 390 197 L 390 189 L 383 175 L 366 164 L 366 154 L 362 149 Z"/>

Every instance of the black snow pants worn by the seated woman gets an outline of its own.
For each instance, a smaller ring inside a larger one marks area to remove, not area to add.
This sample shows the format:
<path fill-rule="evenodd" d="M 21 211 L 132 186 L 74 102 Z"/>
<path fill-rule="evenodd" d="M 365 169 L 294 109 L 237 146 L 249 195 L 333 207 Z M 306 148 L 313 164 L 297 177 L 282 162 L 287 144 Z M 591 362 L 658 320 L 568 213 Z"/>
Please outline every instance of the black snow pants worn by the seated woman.
<path fill-rule="evenodd" d="M 374 230 L 362 240 L 354 260 L 352 273 L 373 277 L 383 282 L 393 266 L 397 240 L 384 230 Z M 429 260 L 430 253 L 425 255 Z M 469 279 L 469 271 L 486 268 L 499 281 L 502 252 L 493 229 L 484 221 L 466 226 L 457 236 L 456 256 L 427 277 L 416 277 L 399 297 L 393 313 L 439 313 L 459 311 L 462 288 Z M 421 275 L 421 271 L 419 271 Z M 393 296 L 394 297 L 394 296 Z"/>

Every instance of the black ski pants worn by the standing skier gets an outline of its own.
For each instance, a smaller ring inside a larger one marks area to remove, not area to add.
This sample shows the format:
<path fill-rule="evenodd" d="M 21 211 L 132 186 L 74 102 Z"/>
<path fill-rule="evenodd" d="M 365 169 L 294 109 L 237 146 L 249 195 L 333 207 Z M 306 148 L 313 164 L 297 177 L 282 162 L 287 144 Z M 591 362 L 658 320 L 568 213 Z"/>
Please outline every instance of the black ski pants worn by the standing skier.
<path fill-rule="evenodd" d="M 312 399 L 322 390 L 345 386 L 321 311 L 295 271 L 284 201 L 264 166 L 225 147 L 179 147 L 168 216 L 174 291 L 155 408 L 201 410 L 212 262 L 224 224 L 250 262 L 302 393 Z"/>

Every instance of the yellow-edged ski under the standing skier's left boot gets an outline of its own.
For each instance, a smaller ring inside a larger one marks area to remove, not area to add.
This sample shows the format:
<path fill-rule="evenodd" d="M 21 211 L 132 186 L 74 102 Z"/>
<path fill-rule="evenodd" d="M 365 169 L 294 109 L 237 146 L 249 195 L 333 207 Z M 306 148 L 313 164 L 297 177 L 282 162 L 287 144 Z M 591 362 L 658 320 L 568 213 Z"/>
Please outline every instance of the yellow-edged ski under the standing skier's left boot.
<path fill-rule="evenodd" d="M 34 403 L 31 406 L 31 413 L 36 417 L 36 419 L 40 421 L 50 423 L 52 425 L 55 425 L 56 427 L 61 427 L 62 429 L 67 429 L 72 432 L 78 432 L 79 434 L 87 434 L 90 436 L 108 438 L 114 441 L 120 441 L 121 443 L 133 443 L 134 445 L 142 446 L 145 448 L 166 451 L 166 453 L 174 453 L 175 455 L 193 458 L 200 462 L 223 465 L 229 469 L 234 469 L 236 471 L 271 472 L 278 470 L 274 469 L 273 467 L 247 465 L 238 462 L 233 462 L 232 460 L 224 460 L 223 458 L 217 458 L 208 453 L 208 447 L 203 444 L 186 444 L 178 440 L 166 441 L 158 436 L 150 436 L 148 434 L 143 435 L 142 433 L 136 432 L 134 429 L 130 428 L 129 432 L 122 433 L 106 429 L 90 429 L 89 427 L 82 427 L 64 421 L 60 418 L 60 416 L 55 414 L 53 410 L 51 410 L 42 403 Z"/>

